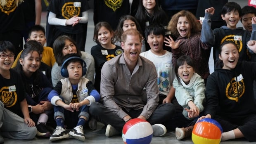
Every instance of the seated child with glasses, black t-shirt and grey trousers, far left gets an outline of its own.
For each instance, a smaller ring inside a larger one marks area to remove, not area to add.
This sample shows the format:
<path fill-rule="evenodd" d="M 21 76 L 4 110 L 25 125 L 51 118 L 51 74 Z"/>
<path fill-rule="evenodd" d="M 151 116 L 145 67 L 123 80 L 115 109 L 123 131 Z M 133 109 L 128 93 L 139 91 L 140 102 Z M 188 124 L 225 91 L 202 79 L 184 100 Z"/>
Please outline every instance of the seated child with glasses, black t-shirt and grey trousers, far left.
<path fill-rule="evenodd" d="M 11 69 L 15 47 L 0 41 L 0 143 L 3 137 L 33 139 L 37 129 L 29 117 L 25 91 L 19 74 Z"/>

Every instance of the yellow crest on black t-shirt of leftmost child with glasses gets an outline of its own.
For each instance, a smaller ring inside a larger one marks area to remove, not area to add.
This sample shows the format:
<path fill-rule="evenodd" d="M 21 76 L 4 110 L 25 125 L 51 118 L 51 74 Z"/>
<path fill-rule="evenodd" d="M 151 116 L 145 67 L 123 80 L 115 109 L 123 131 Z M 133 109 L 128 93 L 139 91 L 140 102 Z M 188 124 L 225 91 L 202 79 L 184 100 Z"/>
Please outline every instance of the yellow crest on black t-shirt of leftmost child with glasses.
<path fill-rule="evenodd" d="M 12 107 L 17 102 L 17 93 L 16 91 L 9 92 L 9 87 L 2 87 L 0 90 L 0 101 L 6 106 L 6 107 Z"/>

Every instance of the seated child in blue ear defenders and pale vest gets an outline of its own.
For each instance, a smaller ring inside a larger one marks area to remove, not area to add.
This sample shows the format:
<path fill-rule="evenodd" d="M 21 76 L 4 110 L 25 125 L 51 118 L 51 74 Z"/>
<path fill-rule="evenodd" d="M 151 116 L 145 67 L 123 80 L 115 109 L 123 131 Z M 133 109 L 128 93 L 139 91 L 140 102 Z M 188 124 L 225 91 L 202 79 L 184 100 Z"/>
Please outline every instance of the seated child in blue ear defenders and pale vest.
<path fill-rule="evenodd" d="M 61 79 L 48 95 L 54 105 L 57 124 L 50 141 L 70 137 L 85 141 L 83 126 L 89 119 L 89 106 L 100 100 L 100 94 L 92 81 L 83 77 L 86 63 L 78 54 L 67 54 L 64 59 L 61 75 L 66 78 Z M 70 127 L 73 127 L 71 131 L 66 130 Z"/>

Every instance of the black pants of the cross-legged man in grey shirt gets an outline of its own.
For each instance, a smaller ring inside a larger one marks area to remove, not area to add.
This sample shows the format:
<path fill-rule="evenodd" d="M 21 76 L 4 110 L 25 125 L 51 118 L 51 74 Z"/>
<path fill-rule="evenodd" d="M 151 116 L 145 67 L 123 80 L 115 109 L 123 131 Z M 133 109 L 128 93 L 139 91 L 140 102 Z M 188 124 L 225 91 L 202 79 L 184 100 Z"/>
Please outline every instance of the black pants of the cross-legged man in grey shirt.
<path fill-rule="evenodd" d="M 131 111 L 125 111 L 130 117 L 137 118 L 140 116 L 140 113 L 142 113 L 143 109 L 139 110 L 131 110 Z M 91 104 L 89 113 L 92 117 L 94 117 L 96 120 L 100 121 L 101 123 L 105 125 L 112 125 L 116 128 L 116 130 L 122 131 L 123 125 L 125 122 L 119 118 L 115 113 L 112 111 L 109 111 L 107 107 L 105 107 L 103 104 L 100 104 L 98 102 L 94 102 Z M 156 123 L 164 124 L 165 122 L 168 122 L 173 114 L 175 113 L 174 105 L 173 104 L 161 104 L 157 106 L 155 111 L 152 113 L 152 115 L 147 119 L 147 121 L 154 125 Z"/>

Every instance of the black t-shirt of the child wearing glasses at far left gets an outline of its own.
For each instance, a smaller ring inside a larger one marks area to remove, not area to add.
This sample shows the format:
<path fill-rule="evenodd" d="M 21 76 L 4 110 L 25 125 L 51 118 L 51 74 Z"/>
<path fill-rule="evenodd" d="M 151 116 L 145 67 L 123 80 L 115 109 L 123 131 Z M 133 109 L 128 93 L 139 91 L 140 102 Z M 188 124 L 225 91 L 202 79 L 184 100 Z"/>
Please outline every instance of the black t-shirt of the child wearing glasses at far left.
<path fill-rule="evenodd" d="M 10 75 L 10 79 L 0 75 L 0 101 L 6 109 L 23 117 L 20 102 L 25 99 L 24 85 L 21 76 L 16 71 L 10 69 Z"/>

